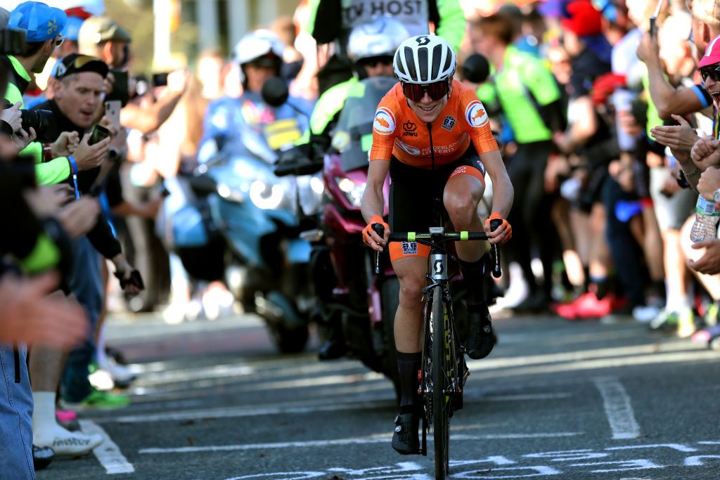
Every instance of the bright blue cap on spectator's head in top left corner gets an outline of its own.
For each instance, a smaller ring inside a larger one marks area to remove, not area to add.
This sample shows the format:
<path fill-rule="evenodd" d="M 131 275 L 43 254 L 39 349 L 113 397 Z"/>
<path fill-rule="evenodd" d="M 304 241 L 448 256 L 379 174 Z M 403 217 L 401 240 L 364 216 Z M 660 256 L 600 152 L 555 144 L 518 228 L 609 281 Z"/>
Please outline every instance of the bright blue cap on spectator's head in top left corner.
<path fill-rule="evenodd" d="M 27 42 L 45 42 L 63 31 L 67 15 L 41 1 L 24 1 L 10 12 L 7 26 L 25 30 Z"/>

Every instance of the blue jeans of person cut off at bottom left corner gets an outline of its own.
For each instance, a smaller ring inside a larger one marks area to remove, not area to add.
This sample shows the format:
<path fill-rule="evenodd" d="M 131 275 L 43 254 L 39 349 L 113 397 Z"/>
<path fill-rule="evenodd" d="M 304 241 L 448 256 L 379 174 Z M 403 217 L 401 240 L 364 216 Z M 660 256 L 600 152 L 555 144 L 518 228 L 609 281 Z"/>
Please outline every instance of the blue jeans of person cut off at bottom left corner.
<path fill-rule="evenodd" d="M 0 344 L 0 479 L 35 480 L 27 349 Z"/>

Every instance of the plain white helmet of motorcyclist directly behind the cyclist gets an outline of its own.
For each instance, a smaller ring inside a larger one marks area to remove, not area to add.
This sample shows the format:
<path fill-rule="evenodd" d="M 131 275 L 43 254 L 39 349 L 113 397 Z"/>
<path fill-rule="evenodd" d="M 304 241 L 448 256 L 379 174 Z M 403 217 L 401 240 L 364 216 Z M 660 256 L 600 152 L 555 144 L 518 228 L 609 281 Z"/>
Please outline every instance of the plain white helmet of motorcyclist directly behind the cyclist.
<path fill-rule="evenodd" d="M 376 17 L 357 25 L 348 39 L 348 57 L 354 62 L 363 58 L 392 57 L 402 40 L 410 34 L 405 25 L 392 17 Z"/>

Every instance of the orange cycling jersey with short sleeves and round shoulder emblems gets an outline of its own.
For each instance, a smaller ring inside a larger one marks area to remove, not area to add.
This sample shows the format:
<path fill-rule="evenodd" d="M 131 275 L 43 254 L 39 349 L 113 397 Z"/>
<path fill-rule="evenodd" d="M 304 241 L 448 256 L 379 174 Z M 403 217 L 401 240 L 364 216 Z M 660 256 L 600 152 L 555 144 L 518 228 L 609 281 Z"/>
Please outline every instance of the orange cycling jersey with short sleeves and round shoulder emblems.
<path fill-rule="evenodd" d="M 395 155 L 413 167 L 437 168 L 460 158 L 470 140 L 479 154 L 498 150 L 485 107 L 474 91 L 454 80 L 438 118 L 432 124 L 423 124 L 397 83 L 375 112 L 370 160 L 390 160 Z"/>

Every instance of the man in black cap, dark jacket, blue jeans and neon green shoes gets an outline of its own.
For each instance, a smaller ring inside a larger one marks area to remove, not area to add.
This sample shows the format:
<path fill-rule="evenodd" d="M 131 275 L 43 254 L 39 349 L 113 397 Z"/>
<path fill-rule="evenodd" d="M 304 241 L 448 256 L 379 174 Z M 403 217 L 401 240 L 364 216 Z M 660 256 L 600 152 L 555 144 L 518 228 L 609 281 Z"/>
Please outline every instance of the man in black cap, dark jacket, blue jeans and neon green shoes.
<path fill-rule="evenodd" d="M 86 148 L 95 148 L 102 145 L 99 155 L 107 155 L 109 151 L 110 138 L 99 140 L 97 135 L 109 135 L 109 130 L 95 126 L 94 117 L 98 111 L 102 99 L 104 99 L 104 81 L 108 74 L 107 65 L 101 60 L 88 55 L 71 54 L 59 60 L 55 65 L 55 96 L 53 99 L 37 105 L 36 109 L 47 109 L 53 113 L 53 125 L 48 129 L 51 138 L 60 135 L 60 132 L 73 132 L 82 137 L 78 145 L 77 154 L 80 155 Z M 103 119 L 101 124 L 108 124 Z M 89 145 L 93 143 L 93 145 Z M 73 178 L 73 189 L 78 196 L 96 195 L 103 189 L 104 173 L 112 168 L 112 164 L 103 165 L 102 168 L 93 168 L 81 171 L 76 178 Z M 119 189 L 112 189 L 119 192 Z M 122 198 L 109 199 L 109 204 L 118 204 Z M 95 327 L 104 300 L 104 282 L 101 276 L 101 259 L 98 253 L 111 260 L 115 266 L 115 276 L 120 279 L 120 284 L 127 294 L 138 294 L 141 284 L 132 281 L 134 272 L 132 266 L 127 263 L 122 255 L 120 243 L 114 237 L 107 218 L 101 216 L 99 222 L 88 233 L 86 238 L 79 239 L 73 245 L 75 263 L 73 274 L 69 279 L 70 287 L 78 300 L 86 308 L 89 314 L 91 325 Z M 93 361 L 96 346 L 94 335 L 89 335 L 86 342 L 73 350 L 68 358 L 68 366 L 63 378 L 63 399 L 71 407 L 82 404 L 85 407 L 93 406 L 91 403 L 114 402 L 114 407 L 127 405 L 127 397 L 101 394 L 93 391 L 87 379 L 88 367 Z M 31 368 L 34 373 L 35 364 Z M 38 365 L 37 368 L 42 368 Z M 98 398 L 96 398 L 98 397 Z"/>

